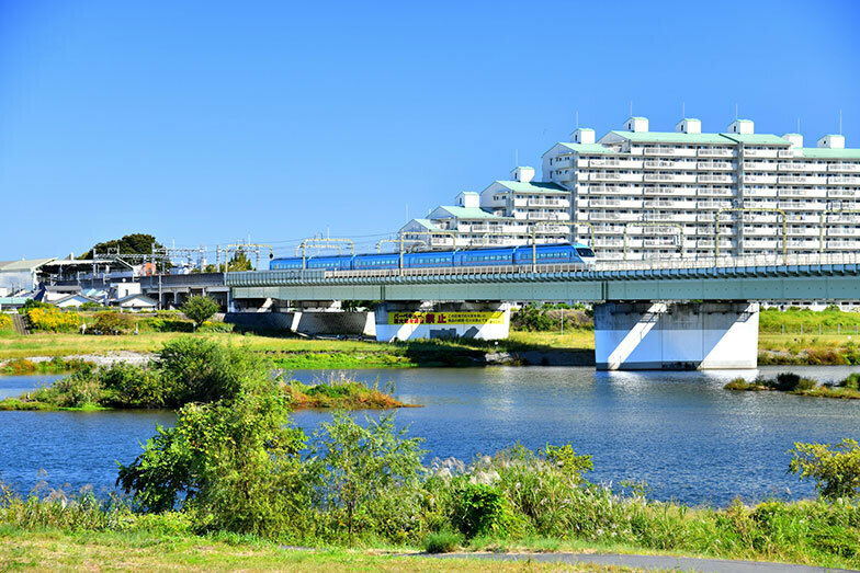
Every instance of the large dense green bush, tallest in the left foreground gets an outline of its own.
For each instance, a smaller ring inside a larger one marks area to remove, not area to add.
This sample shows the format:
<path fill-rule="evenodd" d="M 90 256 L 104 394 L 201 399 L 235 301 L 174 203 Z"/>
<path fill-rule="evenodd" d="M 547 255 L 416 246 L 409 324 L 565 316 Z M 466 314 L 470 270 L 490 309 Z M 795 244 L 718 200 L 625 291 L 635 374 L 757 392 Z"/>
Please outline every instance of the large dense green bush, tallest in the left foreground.
<path fill-rule="evenodd" d="M 251 380 L 233 400 L 189 404 L 120 467 L 117 484 L 138 509 L 180 506 L 207 527 L 276 537 L 301 527 L 309 490 L 299 479 L 304 434 L 291 427 L 280 392 Z"/>

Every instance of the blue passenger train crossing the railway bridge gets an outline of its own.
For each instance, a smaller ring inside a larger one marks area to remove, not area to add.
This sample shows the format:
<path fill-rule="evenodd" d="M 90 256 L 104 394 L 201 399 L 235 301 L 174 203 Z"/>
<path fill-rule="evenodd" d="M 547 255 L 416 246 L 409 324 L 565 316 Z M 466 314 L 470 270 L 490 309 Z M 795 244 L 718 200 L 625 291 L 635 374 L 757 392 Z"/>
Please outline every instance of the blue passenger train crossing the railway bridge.
<path fill-rule="evenodd" d="M 418 251 L 403 254 L 404 268 L 464 267 L 531 265 L 532 253 L 536 264 L 579 263 L 595 264 L 595 251 L 581 243 L 553 243 L 464 249 L 457 251 Z M 400 253 L 370 253 L 355 255 L 301 256 L 273 259 L 271 271 L 314 268 L 324 271 L 367 271 L 400 268 Z"/>

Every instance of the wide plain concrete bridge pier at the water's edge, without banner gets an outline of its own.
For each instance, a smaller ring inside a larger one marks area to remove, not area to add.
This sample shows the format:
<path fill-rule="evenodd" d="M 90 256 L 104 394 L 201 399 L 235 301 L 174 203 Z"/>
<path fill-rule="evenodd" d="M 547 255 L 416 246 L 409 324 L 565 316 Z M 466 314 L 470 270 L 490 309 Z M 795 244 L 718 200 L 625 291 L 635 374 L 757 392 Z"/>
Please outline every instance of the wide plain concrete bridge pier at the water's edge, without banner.
<path fill-rule="evenodd" d="M 756 368 L 758 302 L 595 306 L 598 370 Z"/>

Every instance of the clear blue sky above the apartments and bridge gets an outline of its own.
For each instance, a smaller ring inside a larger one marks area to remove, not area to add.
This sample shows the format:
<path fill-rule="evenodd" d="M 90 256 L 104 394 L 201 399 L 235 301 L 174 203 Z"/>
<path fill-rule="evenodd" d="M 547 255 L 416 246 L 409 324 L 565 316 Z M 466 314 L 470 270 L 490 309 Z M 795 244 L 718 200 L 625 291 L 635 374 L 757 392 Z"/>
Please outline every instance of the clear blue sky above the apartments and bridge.
<path fill-rule="evenodd" d="M 860 2 L 0 0 L 0 260 L 250 233 L 372 248 L 630 102 L 652 130 L 839 127 Z M 540 175 L 539 175 L 540 176 Z"/>

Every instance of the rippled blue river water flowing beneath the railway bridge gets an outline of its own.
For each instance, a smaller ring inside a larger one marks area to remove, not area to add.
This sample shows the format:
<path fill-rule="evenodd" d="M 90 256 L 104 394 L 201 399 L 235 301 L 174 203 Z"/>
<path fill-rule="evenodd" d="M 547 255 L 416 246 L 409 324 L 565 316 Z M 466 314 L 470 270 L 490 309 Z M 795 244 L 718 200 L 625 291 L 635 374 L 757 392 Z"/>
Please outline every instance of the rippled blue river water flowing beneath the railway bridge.
<path fill-rule="evenodd" d="M 650 495 L 725 505 L 767 496 L 806 497 L 811 484 L 787 474 L 794 442 L 860 438 L 860 401 L 778 392 L 732 392 L 738 375 L 791 371 L 838 380 L 860 368 L 763 367 L 744 371 L 596 373 L 592 368 L 490 367 L 354 370 L 403 401 L 398 426 L 425 438 L 428 460 L 468 460 L 520 442 L 530 448 L 572 443 L 593 457 L 590 481 L 645 481 Z M 299 370 L 314 381 L 324 376 Z M 0 377 L 0 397 L 19 396 L 52 377 Z M 308 433 L 330 412 L 303 411 Z M 113 488 L 115 461 L 129 462 L 171 412 L 0 412 L 0 477 L 25 492 L 39 480 L 71 489 Z M 39 470 L 44 470 L 38 475 Z M 46 473 L 46 474 L 45 474 Z"/>

